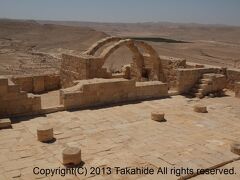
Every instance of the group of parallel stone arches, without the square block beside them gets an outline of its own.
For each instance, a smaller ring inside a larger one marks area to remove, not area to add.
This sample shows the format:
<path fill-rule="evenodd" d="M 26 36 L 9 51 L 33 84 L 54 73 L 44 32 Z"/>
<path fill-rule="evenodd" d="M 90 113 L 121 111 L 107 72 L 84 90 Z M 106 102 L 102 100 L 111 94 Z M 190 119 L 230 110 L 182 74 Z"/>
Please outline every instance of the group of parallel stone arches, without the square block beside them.
<path fill-rule="evenodd" d="M 95 53 L 97 50 L 99 50 L 104 45 L 115 42 L 114 44 L 106 47 L 100 54 L 99 57 L 95 56 Z M 101 39 L 97 41 L 95 44 L 93 44 L 87 51 L 85 51 L 83 54 L 87 56 L 93 56 L 96 58 L 99 58 L 100 61 L 98 61 L 98 67 L 102 67 L 106 61 L 106 59 L 118 48 L 126 46 L 129 48 L 129 50 L 132 52 L 133 57 L 133 64 L 131 65 L 131 76 L 139 81 L 142 80 L 143 77 L 145 77 L 145 72 L 149 71 L 147 74 L 148 80 L 160 80 L 165 82 L 165 76 L 163 72 L 163 67 L 161 63 L 161 59 L 159 58 L 158 53 L 155 51 L 155 49 L 143 42 L 143 41 L 137 41 L 132 39 L 122 39 L 120 37 L 106 37 L 104 39 Z M 139 48 L 142 48 L 148 55 L 149 55 L 149 61 L 151 64 L 150 70 L 145 67 L 145 57 L 140 51 Z"/>

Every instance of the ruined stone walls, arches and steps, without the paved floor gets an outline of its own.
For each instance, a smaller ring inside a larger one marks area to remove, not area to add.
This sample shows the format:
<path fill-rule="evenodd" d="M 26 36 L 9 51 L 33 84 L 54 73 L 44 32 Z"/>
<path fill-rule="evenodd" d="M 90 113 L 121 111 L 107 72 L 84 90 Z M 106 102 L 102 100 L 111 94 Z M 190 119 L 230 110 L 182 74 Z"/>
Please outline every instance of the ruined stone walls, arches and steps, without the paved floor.
<path fill-rule="evenodd" d="M 120 47 L 129 49 L 132 63 L 120 73 L 108 72 L 103 65 Z M 239 81 L 239 70 L 159 56 L 146 42 L 107 37 L 84 52 L 63 54 L 59 74 L 1 76 L 0 116 L 46 114 L 173 94 L 215 97 L 222 96 L 225 88 L 239 97 Z M 45 103 L 50 101 L 56 103 Z"/>

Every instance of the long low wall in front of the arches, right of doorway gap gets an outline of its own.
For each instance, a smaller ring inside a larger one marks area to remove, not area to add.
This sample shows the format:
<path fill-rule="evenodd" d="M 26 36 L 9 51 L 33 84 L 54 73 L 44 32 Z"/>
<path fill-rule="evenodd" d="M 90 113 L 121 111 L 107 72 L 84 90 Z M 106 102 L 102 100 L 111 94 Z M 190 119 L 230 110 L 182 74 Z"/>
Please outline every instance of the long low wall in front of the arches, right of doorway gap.
<path fill-rule="evenodd" d="M 127 79 L 90 79 L 60 91 L 66 109 L 168 96 L 167 84 L 160 81 L 135 82 Z"/>

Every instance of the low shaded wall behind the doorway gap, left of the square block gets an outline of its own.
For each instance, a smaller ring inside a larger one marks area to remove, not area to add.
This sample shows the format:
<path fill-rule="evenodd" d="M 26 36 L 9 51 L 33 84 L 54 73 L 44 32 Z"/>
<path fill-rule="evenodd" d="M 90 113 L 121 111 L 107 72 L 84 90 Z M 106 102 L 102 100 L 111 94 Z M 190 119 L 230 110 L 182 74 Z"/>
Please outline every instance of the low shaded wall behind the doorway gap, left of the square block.
<path fill-rule="evenodd" d="M 60 76 L 57 74 L 39 76 L 12 76 L 11 80 L 28 93 L 43 93 L 60 89 Z"/>

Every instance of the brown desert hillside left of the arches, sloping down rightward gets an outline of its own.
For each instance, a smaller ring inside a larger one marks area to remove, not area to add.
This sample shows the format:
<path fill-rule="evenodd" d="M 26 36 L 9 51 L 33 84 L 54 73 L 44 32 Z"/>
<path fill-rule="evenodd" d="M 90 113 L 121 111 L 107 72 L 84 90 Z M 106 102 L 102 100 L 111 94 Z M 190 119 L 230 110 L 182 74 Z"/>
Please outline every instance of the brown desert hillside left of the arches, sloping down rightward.
<path fill-rule="evenodd" d="M 62 52 L 83 51 L 103 37 L 88 27 L 0 20 L 0 74 L 56 72 Z"/>

